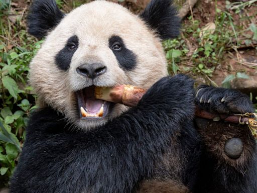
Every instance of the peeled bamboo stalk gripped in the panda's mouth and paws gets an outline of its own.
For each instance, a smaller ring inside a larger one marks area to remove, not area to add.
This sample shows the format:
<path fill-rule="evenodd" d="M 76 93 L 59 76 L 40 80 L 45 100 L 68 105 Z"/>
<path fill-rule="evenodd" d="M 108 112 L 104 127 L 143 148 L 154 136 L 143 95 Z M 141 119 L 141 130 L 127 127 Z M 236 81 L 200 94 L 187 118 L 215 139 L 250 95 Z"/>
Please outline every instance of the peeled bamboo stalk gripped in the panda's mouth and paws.
<path fill-rule="evenodd" d="M 146 93 L 146 89 L 139 88 L 132 85 L 119 85 L 113 88 L 109 87 L 95 87 L 95 98 L 101 99 L 108 102 L 123 104 L 129 107 L 135 107 L 141 100 L 142 96 Z M 252 127 L 257 129 L 257 122 L 254 118 L 250 118 L 249 115 L 218 115 L 206 112 L 196 108 L 196 117 L 211 119 L 214 121 L 227 121 L 230 123 L 239 124 L 251 124 Z M 253 115 L 253 114 L 250 114 Z"/>

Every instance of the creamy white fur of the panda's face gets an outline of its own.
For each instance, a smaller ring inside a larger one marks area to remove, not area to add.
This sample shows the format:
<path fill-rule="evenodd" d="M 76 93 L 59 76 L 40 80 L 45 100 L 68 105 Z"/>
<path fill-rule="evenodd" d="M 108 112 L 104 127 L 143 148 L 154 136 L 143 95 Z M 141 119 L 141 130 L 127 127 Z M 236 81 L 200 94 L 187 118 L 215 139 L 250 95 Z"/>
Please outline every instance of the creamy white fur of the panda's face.
<path fill-rule="evenodd" d="M 55 56 L 73 35 L 78 36 L 79 47 L 65 72 L 56 66 Z M 125 46 L 137 55 L 134 70 L 124 71 L 119 67 L 108 45 L 112 35 L 120 36 Z M 93 81 L 76 72 L 79 65 L 90 62 L 103 62 L 107 71 Z M 39 94 L 41 104 L 50 105 L 80 129 L 102 125 L 127 108 L 115 105 L 112 113 L 102 121 L 79 120 L 75 91 L 92 84 L 132 84 L 149 88 L 168 74 L 162 44 L 155 33 L 138 16 L 118 4 L 105 1 L 82 5 L 67 14 L 49 33 L 30 67 L 30 82 Z"/>

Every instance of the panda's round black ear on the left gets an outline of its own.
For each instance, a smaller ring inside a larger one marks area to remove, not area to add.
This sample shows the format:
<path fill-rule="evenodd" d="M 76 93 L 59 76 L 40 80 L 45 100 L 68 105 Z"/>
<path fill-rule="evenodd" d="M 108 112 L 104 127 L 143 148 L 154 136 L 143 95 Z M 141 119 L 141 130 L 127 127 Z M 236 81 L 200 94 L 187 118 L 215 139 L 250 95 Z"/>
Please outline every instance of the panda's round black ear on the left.
<path fill-rule="evenodd" d="M 27 18 L 28 32 L 37 38 L 43 38 L 63 17 L 55 0 L 34 0 Z"/>

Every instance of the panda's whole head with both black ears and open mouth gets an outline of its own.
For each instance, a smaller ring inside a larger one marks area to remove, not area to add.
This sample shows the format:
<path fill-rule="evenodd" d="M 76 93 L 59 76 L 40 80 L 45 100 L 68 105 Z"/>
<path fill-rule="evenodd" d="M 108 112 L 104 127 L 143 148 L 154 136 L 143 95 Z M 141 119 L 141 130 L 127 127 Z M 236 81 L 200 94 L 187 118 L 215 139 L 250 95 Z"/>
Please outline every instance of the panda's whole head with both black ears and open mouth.
<path fill-rule="evenodd" d="M 77 128 L 103 125 L 127 108 L 92 99 L 93 87 L 149 88 L 168 74 L 161 41 L 176 37 L 179 28 L 171 0 L 152 0 L 140 16 L 106 1 L 63 14 L 55 0 L 35 0 L 28 31 L 46 39 L 30 64 L 30 82 L 42 106 Z M 81 107 L 92 116 L 82 117 Z M 102 107 L 103 117 L 97 117 Z"/>

